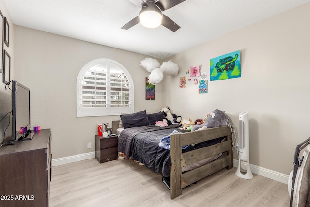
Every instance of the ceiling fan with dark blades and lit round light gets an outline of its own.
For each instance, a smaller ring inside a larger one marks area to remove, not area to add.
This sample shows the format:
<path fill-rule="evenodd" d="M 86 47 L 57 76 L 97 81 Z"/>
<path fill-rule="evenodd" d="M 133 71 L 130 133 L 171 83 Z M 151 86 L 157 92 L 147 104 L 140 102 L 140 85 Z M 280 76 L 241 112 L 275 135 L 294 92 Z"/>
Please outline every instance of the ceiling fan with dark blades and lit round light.
<path fill-rule="evenodd" d="M 140 22 L 144 27 L 155 28 L 163 25 L 175 32 L 180 29 L 180 26 L 162 12 L 183 1 L 186 0 L 139 0 L 139 2 L 137 0 L 130 0 L 130 2 L 141 7 L 140 15 L 130 20 L 122 29 L 128 30 Z"/>

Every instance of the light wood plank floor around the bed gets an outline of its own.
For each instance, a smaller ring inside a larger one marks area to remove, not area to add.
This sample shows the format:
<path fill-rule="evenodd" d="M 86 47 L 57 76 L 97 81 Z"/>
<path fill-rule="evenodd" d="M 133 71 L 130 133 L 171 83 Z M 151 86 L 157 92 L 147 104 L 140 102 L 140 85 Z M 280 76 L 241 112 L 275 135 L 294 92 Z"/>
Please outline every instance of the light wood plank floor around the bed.
<path fill-rule="evenodd" d="M 96 159 L 52 168 L 50 207 L 288 207 L 287 185 L 236 168 L 223 169 L 183 189 L 171 200 L 155 174 L 131 159 L 99 164 Z"/>

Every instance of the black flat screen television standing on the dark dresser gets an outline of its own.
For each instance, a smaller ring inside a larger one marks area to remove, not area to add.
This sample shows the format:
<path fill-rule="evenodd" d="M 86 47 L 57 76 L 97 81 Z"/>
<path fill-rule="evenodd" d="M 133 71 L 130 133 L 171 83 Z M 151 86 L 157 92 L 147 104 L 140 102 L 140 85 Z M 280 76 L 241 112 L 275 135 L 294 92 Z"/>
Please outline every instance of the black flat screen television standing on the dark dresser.
<path fill-rule="evenodd" d="M 12 81 L 13 140 L 32 139 L 30 133 L 30 89 Z M 28 137 L 29 136 L 29 137 Z"/>

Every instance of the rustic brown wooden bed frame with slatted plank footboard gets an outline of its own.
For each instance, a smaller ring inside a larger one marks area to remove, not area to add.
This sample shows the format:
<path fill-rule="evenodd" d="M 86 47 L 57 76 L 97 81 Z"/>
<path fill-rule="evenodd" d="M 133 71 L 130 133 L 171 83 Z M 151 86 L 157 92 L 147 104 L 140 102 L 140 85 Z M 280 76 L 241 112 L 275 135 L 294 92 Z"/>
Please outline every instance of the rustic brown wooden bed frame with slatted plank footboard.
<path fill-rule="evenodd" d="M 118 122 L 112 122 L 112 133 L 114 134 L 118 128 Z M 201 143 L 219 137 L 226 137 L 226 141 L 182 153 L 182 146 Z M 223 153 L 220 158 L 182 173 L 182 167 L 219 153 Z M 186 186 L 225 167 L 227 169 L 233 167 L 232 132 L 229 126 L 171 135 L 171 199 L 181 195 L 182 189 Z"/>

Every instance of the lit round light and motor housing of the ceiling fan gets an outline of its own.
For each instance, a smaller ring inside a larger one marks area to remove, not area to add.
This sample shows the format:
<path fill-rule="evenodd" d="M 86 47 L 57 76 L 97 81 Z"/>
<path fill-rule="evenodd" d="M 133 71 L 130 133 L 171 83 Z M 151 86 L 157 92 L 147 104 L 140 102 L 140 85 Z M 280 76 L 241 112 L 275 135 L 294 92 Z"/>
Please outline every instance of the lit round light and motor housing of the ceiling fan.
<path fill-rule="evenodd" d="M 140 11 L 140 23 L 147 28 L 156 28 L 161 25 L 163 15 L 155 2 L 147 2 L 147 6 Z"/>

